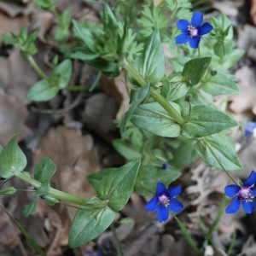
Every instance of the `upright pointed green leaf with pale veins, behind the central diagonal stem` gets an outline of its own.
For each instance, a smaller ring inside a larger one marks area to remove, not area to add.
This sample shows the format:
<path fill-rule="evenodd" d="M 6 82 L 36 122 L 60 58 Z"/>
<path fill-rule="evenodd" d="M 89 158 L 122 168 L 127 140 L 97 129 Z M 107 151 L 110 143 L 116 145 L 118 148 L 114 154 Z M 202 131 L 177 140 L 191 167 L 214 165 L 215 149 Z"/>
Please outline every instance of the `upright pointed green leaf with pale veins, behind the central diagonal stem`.
<path fill-rule="evenodd" d="M 160 41 L 160 32 L 155 30 L 143 52 L 134 61 L 133 67 L 143 75 L 150 85 L 157 84 L 165 74 L 165 55 Z"/>

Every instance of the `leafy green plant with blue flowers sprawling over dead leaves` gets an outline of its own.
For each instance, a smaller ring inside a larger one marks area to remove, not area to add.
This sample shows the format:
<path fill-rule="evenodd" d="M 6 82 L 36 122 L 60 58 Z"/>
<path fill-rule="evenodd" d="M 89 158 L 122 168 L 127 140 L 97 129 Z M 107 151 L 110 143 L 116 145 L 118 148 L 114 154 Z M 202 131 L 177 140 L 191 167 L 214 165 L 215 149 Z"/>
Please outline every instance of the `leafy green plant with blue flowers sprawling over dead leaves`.
<path fill-rule="evenodd" d="M 17 135 L 0 148 L 1 185 L 11 177 L 18 177 L 34 187 L 32 201 L 23 212 L 26 217 L 35 212 L 39 198 L 49 205 L 61 201 L 77 205 L 79 210 L 70 230 L 69 247 L 79 247 L 101 235 L 113 223 L 115 212 L 125 207 L 135 191 L 138 195 L 153 195 L 145 208 L 151 212 L 157 210 L 159 221 L 164 222 L 169 210 L 183 209 L 176 199 L 182 187 L 168 186 L 183 175 L 183 166 L 198 158 L 223 170 L 235 183 L 225 188 L 225 193 L 234 197 L 227 213 L 237 212 L 241 203 L 247 213 L 255 209 L 255 172 L 243 184 L 230 176 L 230 172 L 242 169 L 228 132 L 238 123 L 222 112 L 213 99 L 213 96 L 240 92 L 230 68 L 244 51 L 234 48 L 233 26 L 225 15 L 219 14 L 203 23 L 203 15 L 199 11 L 193 14 L 188 0 L 163 0 L 159 5 L 150 1 L 137 4 L 136 0 L 118 0 L 113 7 L 104 3 L 101 24 L 73 20 L 73 32 L 70 32 L 71 15 L 67 10 L 60 15 L 55 10 L 55 1 L 35 3 L 58 18 L 53 40 L 70 51 L 63 54 L 64 61 L 55 63 L 48 77 L 33 59 L 37 53 L 34 41 L 38 31 L 28 34 L 23 27 L 12 37 L 2 35 L 7 44 L 20 48 L 20 55 L 41 77 L 27 97 L 43 102 L 54 98 L 60 90 L 84 90 L 69 84 L 72 59 L 79 59 L 99 71 L 90 90 L 102 75 L 112 79 L 124 72 L 131 100 L 124 118 L 115 121 L 121 138 L 113 140 L 113 147 L 128 163 L 88 177 L 97 196 L 84 199 L 51 188 L 50 179 L 56 166 L 47 156 L 38 163 L 31 177 L 25 171 L 26 156 L 16 143 Z M 75 42 L 72 48 L 67 47 L 68 36 Z M 172 58 L 165 56 L 163 43 L 169 44 Z M 165 61 L 172 64 L 171 75 L 166 75 Z M 246 134 L 253 134 L 254 127 L 247 122 Z M 16 191 L 9 187 L 0 193 L 13 195 Z M 222 210 L 223 206 L 220 214 Z M 176 219 L 191 247 L 201 254 L 203 248 Z M 209 241 L 210 236 L 207 235 Z M 118 247 L 122 255 L 119 243 Z"/>

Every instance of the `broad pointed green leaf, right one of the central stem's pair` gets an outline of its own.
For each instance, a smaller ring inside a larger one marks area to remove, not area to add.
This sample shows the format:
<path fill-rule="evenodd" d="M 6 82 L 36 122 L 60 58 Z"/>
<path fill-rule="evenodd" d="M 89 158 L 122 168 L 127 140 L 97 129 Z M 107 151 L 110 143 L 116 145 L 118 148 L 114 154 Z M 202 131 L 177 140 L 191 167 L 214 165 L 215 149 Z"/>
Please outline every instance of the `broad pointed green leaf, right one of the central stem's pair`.
<path fill-rule="evenodd" d="M 204 137 L 223 131 L 238 124 L 225 113 L 214 108 L 198 105 L 191 109 L 189 121 L 183 125 L 182 135 L 184 137 Z"/>

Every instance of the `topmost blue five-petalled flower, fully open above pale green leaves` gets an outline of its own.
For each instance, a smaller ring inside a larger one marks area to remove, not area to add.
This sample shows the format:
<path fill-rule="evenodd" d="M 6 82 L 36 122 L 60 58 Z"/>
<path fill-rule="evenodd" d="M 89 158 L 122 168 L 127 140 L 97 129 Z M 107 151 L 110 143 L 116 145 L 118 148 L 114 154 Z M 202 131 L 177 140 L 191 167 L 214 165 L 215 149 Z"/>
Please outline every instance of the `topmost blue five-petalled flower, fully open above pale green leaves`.
<path fill-rule="evenodd" d="M 212 31 L 212 26 L 206 22 L 201 25 L 203 15 L 197 12 L 192 16 L 191 23 L 188 20 L 178 20 L 177 27 L 182 31 L 176 38 L 176 44 L 185 44 L 189 42 L 191 48 L 197 48 L 201 36 Z"/>

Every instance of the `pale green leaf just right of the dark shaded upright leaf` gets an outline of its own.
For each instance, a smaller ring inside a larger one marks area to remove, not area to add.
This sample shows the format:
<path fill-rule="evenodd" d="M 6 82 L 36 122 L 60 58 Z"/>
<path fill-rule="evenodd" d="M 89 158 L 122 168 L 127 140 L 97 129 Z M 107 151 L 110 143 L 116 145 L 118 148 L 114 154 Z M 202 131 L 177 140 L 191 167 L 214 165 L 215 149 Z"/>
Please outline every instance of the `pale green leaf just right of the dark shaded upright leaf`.
<path fill-rule="evenodd" d="M 236 94 L 241 91 L 233 80 L 221 73 L 205 80 L 201 86 L 201 90 L 212 95 Z"/>

